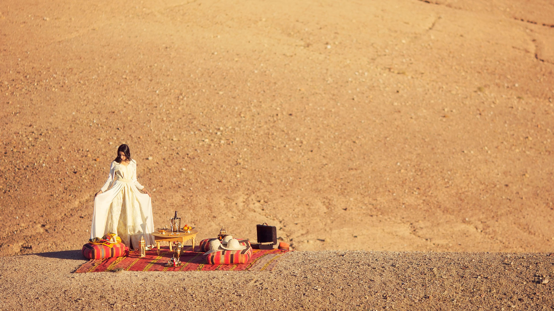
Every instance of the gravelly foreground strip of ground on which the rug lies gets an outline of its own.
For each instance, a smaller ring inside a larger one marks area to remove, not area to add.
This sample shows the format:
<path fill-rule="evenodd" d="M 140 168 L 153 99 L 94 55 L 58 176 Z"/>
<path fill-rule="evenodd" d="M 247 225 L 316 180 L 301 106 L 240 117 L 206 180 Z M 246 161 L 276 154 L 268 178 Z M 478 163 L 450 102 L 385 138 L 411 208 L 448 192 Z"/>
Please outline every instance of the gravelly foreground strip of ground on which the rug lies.
<path fill-rule="evenodd" d="M 84 262 L 80 250 L 1 257 L 0 292 L 10 293 L 2 295 L 3 309 L 507 311 L 554 305 L 552 282 L 541 279 L 552 272 L 553 253 L 295 251 L 273 271 L 71 273 Z"/>

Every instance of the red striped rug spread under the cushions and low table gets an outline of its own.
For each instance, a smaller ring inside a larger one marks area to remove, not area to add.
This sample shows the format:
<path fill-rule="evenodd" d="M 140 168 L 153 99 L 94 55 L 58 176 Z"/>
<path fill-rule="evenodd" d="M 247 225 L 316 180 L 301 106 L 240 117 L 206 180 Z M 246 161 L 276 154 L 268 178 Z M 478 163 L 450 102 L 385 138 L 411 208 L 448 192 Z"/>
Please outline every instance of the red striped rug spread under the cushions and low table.
<path fill-rule="evenodd" d="M 198 250 L 198 246 L 196 246 Z M 165 264 L 173 256 L 169 247 L 161 247 L 160 255 L 156 249 L 146 251 L 146 257 L 140 257 L 139 251 L 130 251 L 127 257 L 114 257 L 98 260 L 90 260 L 81 265 L 75 272 L 102 272 L 118 271 L 214 271 L 214 270 L 249 270 L 261 271 L 271 270 L 283 259 L 289 251 L 279 250 L 252 250 L 252 257 L 247 263 L 238 265 L 206 265 L 206 258 L 203 253 L 192 251 L 191 246 L 184 246 L 181 254 L 181 267 L 165 267 Z"/>

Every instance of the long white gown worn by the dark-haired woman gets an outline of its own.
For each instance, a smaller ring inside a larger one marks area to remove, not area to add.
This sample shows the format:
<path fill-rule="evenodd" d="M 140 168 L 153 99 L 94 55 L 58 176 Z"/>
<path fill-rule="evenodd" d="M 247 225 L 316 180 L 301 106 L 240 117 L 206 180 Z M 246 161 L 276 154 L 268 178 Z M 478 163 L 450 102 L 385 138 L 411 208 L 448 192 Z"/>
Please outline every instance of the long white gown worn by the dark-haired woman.
<path fill-rule="evenodd" d="M 110 175 L 102 186 L 102 193 L 94 199 L 93 225 L 90 238 L 116 233 L 129 248 L 138 249 L 141 236 L 146 245 L 153 245 L 154 222 L 150 195 L 137 181 L 135 160 L 128 165 L 112 162 Z"/>

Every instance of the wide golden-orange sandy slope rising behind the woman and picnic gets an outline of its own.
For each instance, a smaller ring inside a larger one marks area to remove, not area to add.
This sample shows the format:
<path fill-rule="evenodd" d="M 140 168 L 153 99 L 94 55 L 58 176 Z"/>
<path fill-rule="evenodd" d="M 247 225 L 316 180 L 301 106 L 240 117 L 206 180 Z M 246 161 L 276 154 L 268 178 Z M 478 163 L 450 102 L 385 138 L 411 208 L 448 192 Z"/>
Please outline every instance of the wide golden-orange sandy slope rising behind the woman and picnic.
<path fill-rule="evenodd" d="M 121 143 L 155 226 L 177 210 L 201 238 L 268 222 L 300 251 L 552 252 L 553 16 L 546 0 L 4 1 L 0 256 L 26 255 L 4 266 L 80 250 Z"/>

